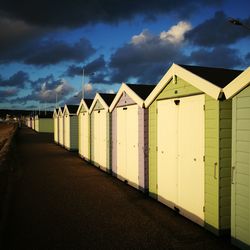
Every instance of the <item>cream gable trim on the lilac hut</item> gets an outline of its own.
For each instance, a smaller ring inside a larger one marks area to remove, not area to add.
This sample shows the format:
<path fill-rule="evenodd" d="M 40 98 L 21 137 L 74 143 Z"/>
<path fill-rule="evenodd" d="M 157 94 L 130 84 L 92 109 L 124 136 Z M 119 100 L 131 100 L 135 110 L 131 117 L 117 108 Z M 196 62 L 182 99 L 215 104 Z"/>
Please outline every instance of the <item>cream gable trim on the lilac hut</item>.
<path fill-rule="evenodd" d="M 143 107 L 143 100 L 141 97 L 139 97 L 126 83 L 122 83 L 119 91 L 117 92 L 114 100 L 112 101 L 109 112 L 112 112 L 116 106 L 116 104 L 119 102 L 121 96 L 123 95 L 123 92 L 126 92 L 130 98 L 132 98 L 139 107 Z"/>

